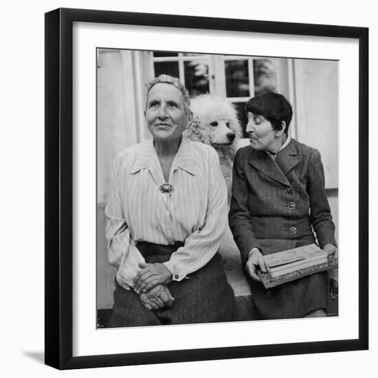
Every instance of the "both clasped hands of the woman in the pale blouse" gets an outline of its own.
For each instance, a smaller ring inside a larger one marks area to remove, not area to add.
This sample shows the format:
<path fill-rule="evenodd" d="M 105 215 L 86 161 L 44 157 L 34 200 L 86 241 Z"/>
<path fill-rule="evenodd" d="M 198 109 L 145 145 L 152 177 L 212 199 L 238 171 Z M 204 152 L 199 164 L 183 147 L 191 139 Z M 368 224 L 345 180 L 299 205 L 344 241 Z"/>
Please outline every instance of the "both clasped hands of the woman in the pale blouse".
<path fill-rule="evenodd" d="M 165 265 L 142 263 L 139 267 L 141 270 L 134 278 L 134 289 L 144 307 L 150 311 L 173 307 L 175 298 L 166 287 L 172 282 L 172 274 Z"/>

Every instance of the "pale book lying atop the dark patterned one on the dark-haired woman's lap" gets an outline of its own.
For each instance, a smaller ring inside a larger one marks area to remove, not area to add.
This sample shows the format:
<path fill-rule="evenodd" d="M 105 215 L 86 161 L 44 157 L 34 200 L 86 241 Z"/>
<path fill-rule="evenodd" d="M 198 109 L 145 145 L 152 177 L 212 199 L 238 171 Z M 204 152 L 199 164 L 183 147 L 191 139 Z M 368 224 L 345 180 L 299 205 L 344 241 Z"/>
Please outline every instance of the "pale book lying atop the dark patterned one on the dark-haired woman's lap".
<path fill-rule="evenodd" d="M 269 274 L 278 277 L 298 269 L 326 263 L 328 254 L 318 245 L 310 244 L 265 255 L 264 260 Z"/>

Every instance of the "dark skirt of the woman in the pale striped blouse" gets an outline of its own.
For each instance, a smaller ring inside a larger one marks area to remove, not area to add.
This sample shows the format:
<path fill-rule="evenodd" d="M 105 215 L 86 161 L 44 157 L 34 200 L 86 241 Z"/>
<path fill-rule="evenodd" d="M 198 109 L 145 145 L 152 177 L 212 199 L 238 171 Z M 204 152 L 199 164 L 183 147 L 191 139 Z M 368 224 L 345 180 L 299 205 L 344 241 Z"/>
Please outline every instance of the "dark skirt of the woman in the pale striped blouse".
<path fill-rule="evenodd" d="M 146 263 L 164 263 L 183 243 L 157 245 L 138 243 Z M 115 282 L 114 306 L 109 327 L 153 326 L 161 324 L 194 324 L 231 321 L 234 313 L 234 292 L 228 285 L 221 256 L 189 274 L 180 282 L 168 285 L 175 298 L 172 308 L 149 311 L 135 291 L 125 290 Z"/>

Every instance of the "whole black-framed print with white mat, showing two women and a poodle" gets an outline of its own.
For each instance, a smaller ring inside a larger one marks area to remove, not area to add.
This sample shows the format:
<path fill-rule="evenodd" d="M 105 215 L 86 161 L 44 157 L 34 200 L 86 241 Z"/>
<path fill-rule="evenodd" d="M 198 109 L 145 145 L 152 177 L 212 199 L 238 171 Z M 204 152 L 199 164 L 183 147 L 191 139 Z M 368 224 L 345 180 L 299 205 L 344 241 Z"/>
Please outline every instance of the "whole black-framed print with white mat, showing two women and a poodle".
<path fill-rule="evenodd" d="M 45 135 L 47 365 L 368 348 L 367 28 L 54 10 Z"/>

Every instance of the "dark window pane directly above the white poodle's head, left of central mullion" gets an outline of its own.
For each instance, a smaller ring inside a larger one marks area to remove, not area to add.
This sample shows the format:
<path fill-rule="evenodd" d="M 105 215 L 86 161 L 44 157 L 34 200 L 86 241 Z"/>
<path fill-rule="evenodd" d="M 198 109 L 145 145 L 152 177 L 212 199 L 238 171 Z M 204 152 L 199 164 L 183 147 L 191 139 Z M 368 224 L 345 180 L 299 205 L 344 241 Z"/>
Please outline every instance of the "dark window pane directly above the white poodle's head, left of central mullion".
<path fill-rule="evenodd" d="M 209 66 L 204 60 L 189 60 L 184 62 L 185 86 L 190 96 L 196 96 L 209 91 Z"/>

